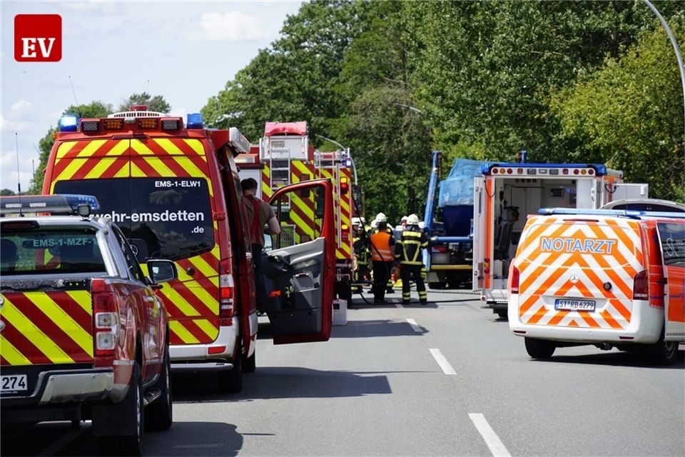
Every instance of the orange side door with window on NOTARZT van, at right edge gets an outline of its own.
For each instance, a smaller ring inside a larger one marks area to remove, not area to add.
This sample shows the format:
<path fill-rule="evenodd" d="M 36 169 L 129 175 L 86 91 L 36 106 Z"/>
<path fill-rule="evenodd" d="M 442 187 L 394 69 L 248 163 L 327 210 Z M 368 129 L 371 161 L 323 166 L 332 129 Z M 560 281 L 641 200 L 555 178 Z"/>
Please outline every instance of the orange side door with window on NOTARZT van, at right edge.
<path fill-rule="evenodd" d="M 685 341 L 685 220 L 656 223 L 664 262 L 664 340 Z"/>

